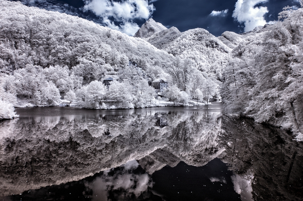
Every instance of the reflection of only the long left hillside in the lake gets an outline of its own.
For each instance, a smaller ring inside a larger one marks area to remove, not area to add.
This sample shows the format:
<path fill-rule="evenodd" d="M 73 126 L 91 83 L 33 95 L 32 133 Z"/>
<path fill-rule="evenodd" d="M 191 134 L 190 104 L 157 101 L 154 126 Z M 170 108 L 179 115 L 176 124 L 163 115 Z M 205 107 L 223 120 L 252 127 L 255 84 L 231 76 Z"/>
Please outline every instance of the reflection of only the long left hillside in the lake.
<path fill-rule="evenodd" d="M 151 149 L 149 136 L 141 135 L 154 124 L 153 116 L 132 114 L 110 120 L 94 116 L 7 121 L 0 128 L 0 133 L 6 133 L 7 128 L 11 131 L 1 136 L 1 193 L 79 180 L 120 166 Z M 103 135 L 106 128 L 108 136 Z"/>

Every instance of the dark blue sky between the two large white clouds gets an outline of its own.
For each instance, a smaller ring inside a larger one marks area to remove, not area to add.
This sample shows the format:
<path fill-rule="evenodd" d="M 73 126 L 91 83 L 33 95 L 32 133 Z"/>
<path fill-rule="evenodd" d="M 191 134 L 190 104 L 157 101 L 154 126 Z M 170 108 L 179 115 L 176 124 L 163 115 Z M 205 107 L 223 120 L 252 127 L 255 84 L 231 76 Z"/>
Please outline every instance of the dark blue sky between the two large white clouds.
<path fill-rule="evenodd" d="M 177 27 L 180 31 L 204 28 L 214 35 L 224 31 L 239 32 L 240 23 L 231 17 L 237 0 L 160 0 L 154 2 L 153 19 L 165 26 Z M 227 16 L 210 16 L 211 11 L 228 9 Z"/>

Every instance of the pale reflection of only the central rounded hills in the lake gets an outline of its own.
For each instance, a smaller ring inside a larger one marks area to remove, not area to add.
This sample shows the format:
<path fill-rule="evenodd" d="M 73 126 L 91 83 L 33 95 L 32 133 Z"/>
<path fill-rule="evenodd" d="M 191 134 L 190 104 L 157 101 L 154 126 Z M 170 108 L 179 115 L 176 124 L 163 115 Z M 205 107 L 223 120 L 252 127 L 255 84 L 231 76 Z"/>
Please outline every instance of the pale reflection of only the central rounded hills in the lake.
<path fill-rule="evenodd" d="M 174 167 L 182 160 L 190 165 L 203 166 L 224 150 L 217 139 L 221 134 L 220 112 L 211 115 L 207 112 L 176 112 L 166 118 L 168 126 L 162 129 L 171 133 L 167 146 L 139 161 L 149 173 L 157 170 L 154 164 L 159 162 Z M 163 166 L 160 164 L 159 167 Z"/>

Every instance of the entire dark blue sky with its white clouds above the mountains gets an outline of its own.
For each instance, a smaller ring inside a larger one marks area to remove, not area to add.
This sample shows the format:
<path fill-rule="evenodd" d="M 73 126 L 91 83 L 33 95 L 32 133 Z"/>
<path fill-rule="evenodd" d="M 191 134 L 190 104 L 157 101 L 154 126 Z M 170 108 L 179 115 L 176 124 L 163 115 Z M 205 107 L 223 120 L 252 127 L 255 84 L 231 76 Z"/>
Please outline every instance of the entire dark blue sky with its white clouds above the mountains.
<path fill-rule="evenodd" d="M 144 14 L 144 8 L 136 5 L 136 3 L 142 3 L 143 1 L 145 0 L 21 0 L 23 4 L 28 6 L 77 15 L 99 24 L 119 29 L 129 35 L 132 35 L 136 28 L 138 29 L 145 22 L 145 18 L 148 18 L 148 15 Z M 148 1 L 149 16 L 164 26 L 168 28 L 175 26 L 180 31 L 204 28 L 215 36 L 221 35 L 224 31 L 241 33 L 248 31 L 249 27 L 253 29 L 255 26 L 264 25 L 266 22 L 278 20 L 278 13 L 287 5 L 294 6 L 293 8 L 300 7 L 298 0 L 243 0 L 244 3 L 238 5 L 237 15 L 234 14 L 233 16 L 237 0 Z M 85 4 L 89 5 L 92 2 L 95 4 L 85 8 Z M 112 4 L 108 5 L 108 8 L 110 8 L 106 11 L 108 14 L 102 14 L 100 13 L 102 12 L 100 10 L 103 9 L 102 5 L 104 5 L 102 2 L 120 2 L 120 5 L 133 5 L 134 11 L 129 13 L 130 17 L 128 15 L 126 17 L 126 14 L 117 13 L 120 7 Z M 151 4 L 155 9 L 152 9 Z M 245 10 L 248 7 L 251 9 Z M 250 15 L 249 12 L 254 13 L 257 9 L 259 11 L 263 9 L 261 16 Z M 264 11 L 264 9 L 267 9 L 267 11 Z M 142 11 L 141 14 L 140 11 Z"/>

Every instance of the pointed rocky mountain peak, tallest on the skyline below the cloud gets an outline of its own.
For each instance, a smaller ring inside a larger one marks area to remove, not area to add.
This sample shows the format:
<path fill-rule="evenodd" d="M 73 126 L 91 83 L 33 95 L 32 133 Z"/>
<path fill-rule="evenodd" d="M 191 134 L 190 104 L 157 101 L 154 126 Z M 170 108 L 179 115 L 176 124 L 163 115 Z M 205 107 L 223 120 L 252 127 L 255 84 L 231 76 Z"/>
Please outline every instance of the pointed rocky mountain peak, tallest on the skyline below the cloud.
<path fill-rule="evenodd" d="M 156 22 L 155 20 L 150 18 L 141 26 L 137 33 L 135 33 L 134 37 L 148 38 L 151 35 L 163 30 L 167 30 L 167 28 L 161 23 Z"/>

